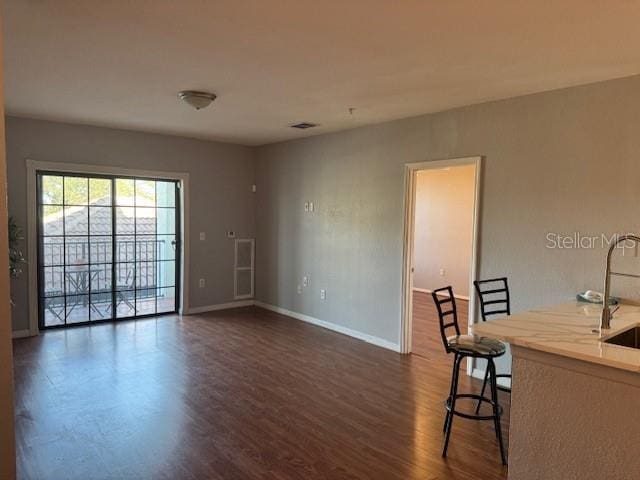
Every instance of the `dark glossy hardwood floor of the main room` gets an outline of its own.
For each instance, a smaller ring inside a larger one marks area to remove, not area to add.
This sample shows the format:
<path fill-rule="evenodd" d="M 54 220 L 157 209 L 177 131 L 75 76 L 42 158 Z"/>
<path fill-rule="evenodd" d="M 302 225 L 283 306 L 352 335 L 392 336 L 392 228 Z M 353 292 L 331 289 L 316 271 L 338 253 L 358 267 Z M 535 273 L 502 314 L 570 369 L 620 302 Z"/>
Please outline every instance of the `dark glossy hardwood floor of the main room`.
<path fill-rule="evenodd" d="M 49 331 L 14 357 L 20 479 L 506 478 L 490 422 L 456 418 L 440 456 L 450 360 L 261 309 Z"/>

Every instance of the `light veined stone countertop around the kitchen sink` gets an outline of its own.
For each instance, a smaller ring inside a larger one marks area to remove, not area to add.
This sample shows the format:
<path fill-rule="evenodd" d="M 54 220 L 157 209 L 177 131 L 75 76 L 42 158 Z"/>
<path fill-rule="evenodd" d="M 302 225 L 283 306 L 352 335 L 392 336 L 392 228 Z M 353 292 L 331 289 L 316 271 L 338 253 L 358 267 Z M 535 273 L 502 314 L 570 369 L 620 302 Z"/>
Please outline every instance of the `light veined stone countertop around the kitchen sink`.
<path fill-rule="evenodd" d="M 599 331 L 599 305 L 571 302 L 501 317 L 473 326 L 475 335 L 511 345 L 640 373 L 640 349 L 604 343 L 640 325 L 640 306 L 620 305 L 611 329 Z M 595 332 L 594 332 L 595 330 Z"/>

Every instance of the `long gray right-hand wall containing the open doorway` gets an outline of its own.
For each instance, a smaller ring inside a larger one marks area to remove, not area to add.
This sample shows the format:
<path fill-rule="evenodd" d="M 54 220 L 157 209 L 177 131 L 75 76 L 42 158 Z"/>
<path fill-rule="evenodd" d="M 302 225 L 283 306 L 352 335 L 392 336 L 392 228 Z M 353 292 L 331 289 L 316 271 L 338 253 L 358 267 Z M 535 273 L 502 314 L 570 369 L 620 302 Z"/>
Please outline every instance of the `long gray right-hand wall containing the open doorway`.
<path fill-rule="evenodd" d="M 403 166 L 471 155 L 485 157 L 479 276 L 509 276 L 515 311 L 600 290 L 604 250 L 546 235 L 638 231 L 639 132 L 636 76 L 262 147 L 258 299 L 398 343 Z"/>

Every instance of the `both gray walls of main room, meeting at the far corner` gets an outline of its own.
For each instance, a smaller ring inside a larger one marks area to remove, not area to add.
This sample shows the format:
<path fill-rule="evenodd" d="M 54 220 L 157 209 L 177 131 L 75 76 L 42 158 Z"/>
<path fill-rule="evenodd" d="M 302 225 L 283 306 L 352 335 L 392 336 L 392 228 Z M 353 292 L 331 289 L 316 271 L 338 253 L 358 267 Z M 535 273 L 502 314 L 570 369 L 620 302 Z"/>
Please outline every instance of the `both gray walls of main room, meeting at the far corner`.
<path fill-rule="evenodd" d="M 26 158 L 188 171 L 192 307 L 232 299 L 224 232 L 255 221 L 259 300 L 398 343 L 405 163 L 485 157 L 479 276 L 508 275 L 514 310 L 533 308 L 601 289 L 604 250 L 549 249 L 548 232 L 640 230 L 639 112 L 630 77 L 258 149 L 8 118 L 9 208 L 25 225 Z M 26 276 L 14 299 L 27 328 Z"/>

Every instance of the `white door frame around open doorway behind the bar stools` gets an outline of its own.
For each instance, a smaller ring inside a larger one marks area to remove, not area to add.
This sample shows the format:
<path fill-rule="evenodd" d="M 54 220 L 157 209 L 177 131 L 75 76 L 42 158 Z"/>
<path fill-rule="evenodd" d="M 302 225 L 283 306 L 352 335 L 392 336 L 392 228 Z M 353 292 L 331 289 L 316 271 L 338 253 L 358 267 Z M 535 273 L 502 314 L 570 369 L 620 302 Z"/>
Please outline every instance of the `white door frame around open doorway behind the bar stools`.
<path fill-rule="evenodd" d="M 471 265 L 469 266 L 469 324 L 471 327 L 475 323 L 477 298 L 473 288 L 473 279 L 478 271 L 478 238 L 480 231 L 480 200 L 481 178 L 482 178 L 482 157 L 461 157 L 445 160 L 433 160 L 418 163 L 405 164 L 404 175 L 404 240 L 402 255 L 402 316 L 400 325 L 400 353 L 411 353 L 412 326 L 413 326 L 413 253 L 414 253 L 414 231 L 415 231 L 415 209 L 416 209 L 416 179 L 417 172 L 421 170 L 440 169 L 462 165 L 475 165 L 475 199 L 473 206 L 473 233 L 471 245 Z M 473 363 L 467 363 L 467 373 L 470 375 L 473 370 Z"/>

